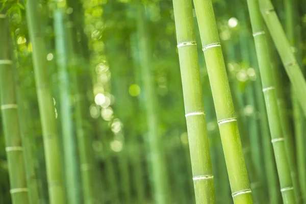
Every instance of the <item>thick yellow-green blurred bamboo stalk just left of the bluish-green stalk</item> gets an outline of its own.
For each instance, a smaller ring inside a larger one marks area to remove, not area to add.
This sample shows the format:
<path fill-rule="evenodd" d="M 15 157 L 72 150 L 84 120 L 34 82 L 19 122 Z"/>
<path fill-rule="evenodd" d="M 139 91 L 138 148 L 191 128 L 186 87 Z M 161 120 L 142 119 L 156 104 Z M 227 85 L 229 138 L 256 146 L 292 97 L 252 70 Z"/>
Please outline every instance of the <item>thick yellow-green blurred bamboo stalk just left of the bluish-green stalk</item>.
<path fill-rule="evenodd" d="M 46 71 L 46 50 L 41 31 L 41 15 L 38 10 L 39 1 L 27 2 L 27 23 L 33 47 L 34 74 L 38 95 L 38 105 L 43 132 L 43 143 L 46 158 L 46 171 L 49 200 L 51 204 L 66 203 L 62 163 L 57 134 L 54 102 Z"/>

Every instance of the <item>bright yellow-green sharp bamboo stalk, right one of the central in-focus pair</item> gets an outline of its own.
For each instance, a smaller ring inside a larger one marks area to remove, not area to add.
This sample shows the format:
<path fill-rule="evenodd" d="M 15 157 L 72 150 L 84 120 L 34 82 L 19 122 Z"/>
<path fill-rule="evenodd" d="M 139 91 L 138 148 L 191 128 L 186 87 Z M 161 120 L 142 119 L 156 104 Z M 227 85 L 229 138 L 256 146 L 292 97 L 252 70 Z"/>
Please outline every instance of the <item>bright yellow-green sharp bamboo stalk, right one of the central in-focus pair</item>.
<path fill-rule="evenodd" d="M 234 203 L 253 203 L 211 0 L 194 0 Z"/>

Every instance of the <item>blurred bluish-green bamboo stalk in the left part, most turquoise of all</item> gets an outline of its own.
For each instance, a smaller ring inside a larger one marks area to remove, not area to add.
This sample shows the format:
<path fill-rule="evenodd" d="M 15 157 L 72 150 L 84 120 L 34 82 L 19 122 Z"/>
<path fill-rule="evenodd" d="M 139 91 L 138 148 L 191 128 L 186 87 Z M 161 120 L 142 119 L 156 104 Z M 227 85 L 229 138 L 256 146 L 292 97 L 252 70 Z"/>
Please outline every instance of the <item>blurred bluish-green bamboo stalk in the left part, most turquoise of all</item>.
<path fill-rule="evenodd" d="M 61 9 L 54 11 L 54 30 L 56 43 L 56 58 L 59 72 L 61 97 L 62 138 L 64 146 L 64 170 L 68 203 L 80 203 L 79 165 L 76 140 L 73 133 L 73 119 L 70 105 L 69 76 L 67 70 L 68 49 L 66 41 L 64 14 Z"/>

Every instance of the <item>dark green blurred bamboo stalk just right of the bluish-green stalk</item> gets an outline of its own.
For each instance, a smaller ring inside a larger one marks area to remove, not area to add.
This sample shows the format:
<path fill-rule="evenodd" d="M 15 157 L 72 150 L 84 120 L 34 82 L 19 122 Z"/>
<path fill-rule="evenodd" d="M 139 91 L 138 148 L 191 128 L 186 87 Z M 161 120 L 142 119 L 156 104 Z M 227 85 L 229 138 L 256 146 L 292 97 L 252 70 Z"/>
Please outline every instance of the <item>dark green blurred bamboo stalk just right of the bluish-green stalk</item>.
<path fill-rule="evenodd" d="M 78 143 L 78 154 L 80 162 L 80 173 L 83 199 L 85 204 L 94 203 L 95 191 L 94 191 L 94 162 L 93 152 L 91 147 L 91 137 L 86 129 L 86 110 L 85 106 L 85 94 L 84 86 L 81 79 L 78 77 L 79 67 L 81 60 L 78 55 L 77 40 L 73 34 L 74 23 L 73 21 L 67 22 L 67 39 L 68 39 L 68 55 L 69 55 L 69 70 L 71 70 L 71 81 L 73 84 L 72 92 L 75 96 L 75 129 L 77 129 L 77 143 Z"/>

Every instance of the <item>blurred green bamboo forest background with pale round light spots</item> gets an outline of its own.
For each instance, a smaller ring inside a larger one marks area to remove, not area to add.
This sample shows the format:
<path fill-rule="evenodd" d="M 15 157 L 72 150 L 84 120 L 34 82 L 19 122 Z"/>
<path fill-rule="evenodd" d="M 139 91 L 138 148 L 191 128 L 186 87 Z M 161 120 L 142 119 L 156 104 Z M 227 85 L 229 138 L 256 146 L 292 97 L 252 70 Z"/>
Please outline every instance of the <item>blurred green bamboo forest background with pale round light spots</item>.
<path fill-rule="evenodd" d="M 63 172 L 67 197 L 77 200 L 67 203 L 85 203 L 84 196 L 94 198 L 88 203 L 157 203 L 155 186 L 163 186 L 167 203 L 195 203 L 172 1 L 35 2 L 61 159 L 53 168 Z M 286 28 L 286 1 L 272 2 Z M 49 203 L 27 9 L 23 0 L 0 5 L 9 22 L 22 143 L 30 152 L 25 163 L 33 166 L 39 203 Z M 262 138 L 270 133 L 246 1 L 215 0 L 213 6 L 244 152 L 252 152 L 245 158 L 252 163 L 248 173 L 258 175 L 251 186 L 268 197 Z M 293 48 L 305 65 L 306 2 L 292 6 Z M 233 201 L 195 12 L 194 23 L 217 203 L 227 204 Z M 304 117 L 293 111 L 289 80 L 274 49 L 271 56 L 281 70 L 291 133 L 303 134 Z M 154 171 L 163 176 L 152 176 Z M 1 131 L 0 203 L 11 203 L 9 186 Z"/>

